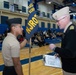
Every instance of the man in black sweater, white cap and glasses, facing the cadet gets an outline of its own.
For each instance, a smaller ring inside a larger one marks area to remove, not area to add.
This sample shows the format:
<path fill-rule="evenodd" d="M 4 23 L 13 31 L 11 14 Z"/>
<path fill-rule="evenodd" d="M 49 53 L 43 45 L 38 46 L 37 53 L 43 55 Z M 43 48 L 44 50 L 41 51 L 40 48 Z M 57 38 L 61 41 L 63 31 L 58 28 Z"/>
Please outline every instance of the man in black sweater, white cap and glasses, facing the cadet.
<path fill-rule="evenodd" d="M 58 53 L 62 61 L 63 75 L 76 75 L 76 31 L 70 20 L 69 7 L 64 7 L 53 14 L 60 29 L 64 29 L 61 48 L 50 44 L 51 50 Z"/>

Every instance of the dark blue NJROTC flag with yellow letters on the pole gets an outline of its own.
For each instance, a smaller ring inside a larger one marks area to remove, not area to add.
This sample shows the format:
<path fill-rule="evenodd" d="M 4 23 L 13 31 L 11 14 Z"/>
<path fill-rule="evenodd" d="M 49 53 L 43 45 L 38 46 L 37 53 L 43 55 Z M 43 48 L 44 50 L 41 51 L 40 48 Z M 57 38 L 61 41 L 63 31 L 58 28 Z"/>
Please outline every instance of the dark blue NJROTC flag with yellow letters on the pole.
<path fill-rule="evenodd" d="M 28 20 L 26 25 L 26 38 L 30 39 L 38 29 L 38 20 L 32 0 L 28 2 Z"/>

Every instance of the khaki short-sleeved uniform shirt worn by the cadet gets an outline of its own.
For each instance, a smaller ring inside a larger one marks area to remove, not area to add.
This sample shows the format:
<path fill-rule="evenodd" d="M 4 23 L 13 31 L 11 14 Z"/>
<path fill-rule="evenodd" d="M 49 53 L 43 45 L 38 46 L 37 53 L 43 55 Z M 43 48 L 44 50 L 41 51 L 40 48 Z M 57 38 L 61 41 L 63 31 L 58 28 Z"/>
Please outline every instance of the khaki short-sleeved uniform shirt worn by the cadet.
<path fill-rule="evenodd" d="M 8 33 L 3 41 L 2 56 L 5 66 L 13 66 L 12 57 L 20 56 L 20 44 L 12 33 Z"/>

